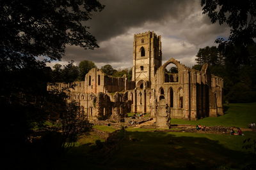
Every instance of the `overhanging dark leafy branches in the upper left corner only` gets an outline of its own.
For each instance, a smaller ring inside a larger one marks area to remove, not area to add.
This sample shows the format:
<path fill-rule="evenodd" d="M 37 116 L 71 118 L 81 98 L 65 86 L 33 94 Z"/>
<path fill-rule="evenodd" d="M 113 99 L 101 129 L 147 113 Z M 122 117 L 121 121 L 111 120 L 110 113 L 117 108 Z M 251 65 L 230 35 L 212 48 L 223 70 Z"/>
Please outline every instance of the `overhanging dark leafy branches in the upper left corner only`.
<path fill-rule="evenodd" d="M 0 47 L 20 56 L 47 56 L 60 60 L 65 46 L 98 47 L 83 24 L 92 12 L 104 8 L 97 0 L 3 0 L 0 4 Z"/>

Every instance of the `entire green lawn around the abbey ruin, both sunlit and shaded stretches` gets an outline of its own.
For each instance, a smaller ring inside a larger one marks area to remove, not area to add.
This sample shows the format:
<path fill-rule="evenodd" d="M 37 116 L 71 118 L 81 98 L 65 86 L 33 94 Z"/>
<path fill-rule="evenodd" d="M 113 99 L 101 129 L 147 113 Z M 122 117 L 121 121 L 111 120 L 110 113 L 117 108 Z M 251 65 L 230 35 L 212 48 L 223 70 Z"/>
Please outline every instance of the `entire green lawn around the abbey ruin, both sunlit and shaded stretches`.
<path fill-rule="evenodd" d="M 202 124 L 247 127 L 256 122 L 256 103 L 229 104 L 225 115 L 197 121 L 172 119 L 172 124 Z M 104 125 L 93 128 L 104 132 L 116 129 Z M 84 136 L 53 169 L 242 169 L 252 163 L 252 150 L 243 141 L 256 139 L 256 133 L 244 136 L 193 132 L 154 132 L 156 129 L 128 128 L 115 150 L 99 148 L 99 136 Z"/>

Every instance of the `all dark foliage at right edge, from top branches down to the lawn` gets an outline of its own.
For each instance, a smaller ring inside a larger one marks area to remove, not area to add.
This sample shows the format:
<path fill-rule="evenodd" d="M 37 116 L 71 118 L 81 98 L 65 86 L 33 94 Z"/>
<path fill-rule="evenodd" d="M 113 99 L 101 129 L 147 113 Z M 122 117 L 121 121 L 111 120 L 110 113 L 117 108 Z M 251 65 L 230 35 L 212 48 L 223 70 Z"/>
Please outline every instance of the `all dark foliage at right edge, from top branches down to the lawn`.
<path fill-rule="evenodd" d="M 256 1 L 201 0 L 201 5 L 212 23 L 230 27 L 228 39 L 216 39 L 225 62 L 210 63 L 212 73 L 224 79 L 224 101 L 256 101 Z"/>

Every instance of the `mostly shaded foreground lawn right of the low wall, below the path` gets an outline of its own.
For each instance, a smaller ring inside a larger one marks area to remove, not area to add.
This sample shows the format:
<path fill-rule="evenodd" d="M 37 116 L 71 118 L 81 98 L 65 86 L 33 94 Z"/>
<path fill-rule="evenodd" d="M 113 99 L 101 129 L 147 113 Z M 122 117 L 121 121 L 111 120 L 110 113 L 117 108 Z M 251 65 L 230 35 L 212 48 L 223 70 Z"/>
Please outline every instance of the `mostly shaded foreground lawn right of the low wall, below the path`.
<path fill-rule="evenodd" d="M 248 152 L 242 148 L 243 140 L 255 136 L 255 133 L 230 136 L 182 132 L 127 132 L 126 136 L 138 141 L 125 140 L 122 148 L 111 158 L 109 167 L 175 169 L 185 168 L 189 162 L 199 169 L 221 165 L 239 167 L 239 164 L 244 165 L 243 161 Z"/>

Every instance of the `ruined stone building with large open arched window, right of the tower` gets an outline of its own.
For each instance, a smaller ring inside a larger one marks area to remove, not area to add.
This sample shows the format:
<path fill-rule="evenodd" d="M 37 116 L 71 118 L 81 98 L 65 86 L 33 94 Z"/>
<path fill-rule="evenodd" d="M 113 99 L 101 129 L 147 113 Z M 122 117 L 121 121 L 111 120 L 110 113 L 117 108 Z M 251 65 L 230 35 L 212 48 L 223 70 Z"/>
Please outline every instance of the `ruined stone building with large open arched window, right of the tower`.
<path fill-rule="evenodd" d="M 170 63 L 177 66 L 179 73 L 176 75 L 177 81 L 166 82 L 164 69 Z M 195 120 L 221 115 L 221 82 L 221 78 L 209 73 L 207 64 L 197 71 L 172 58 L 159 67 L 152 87 L 156 90 L 156 101 L 165 99 L 170 106 L 171 117 Z"/>

